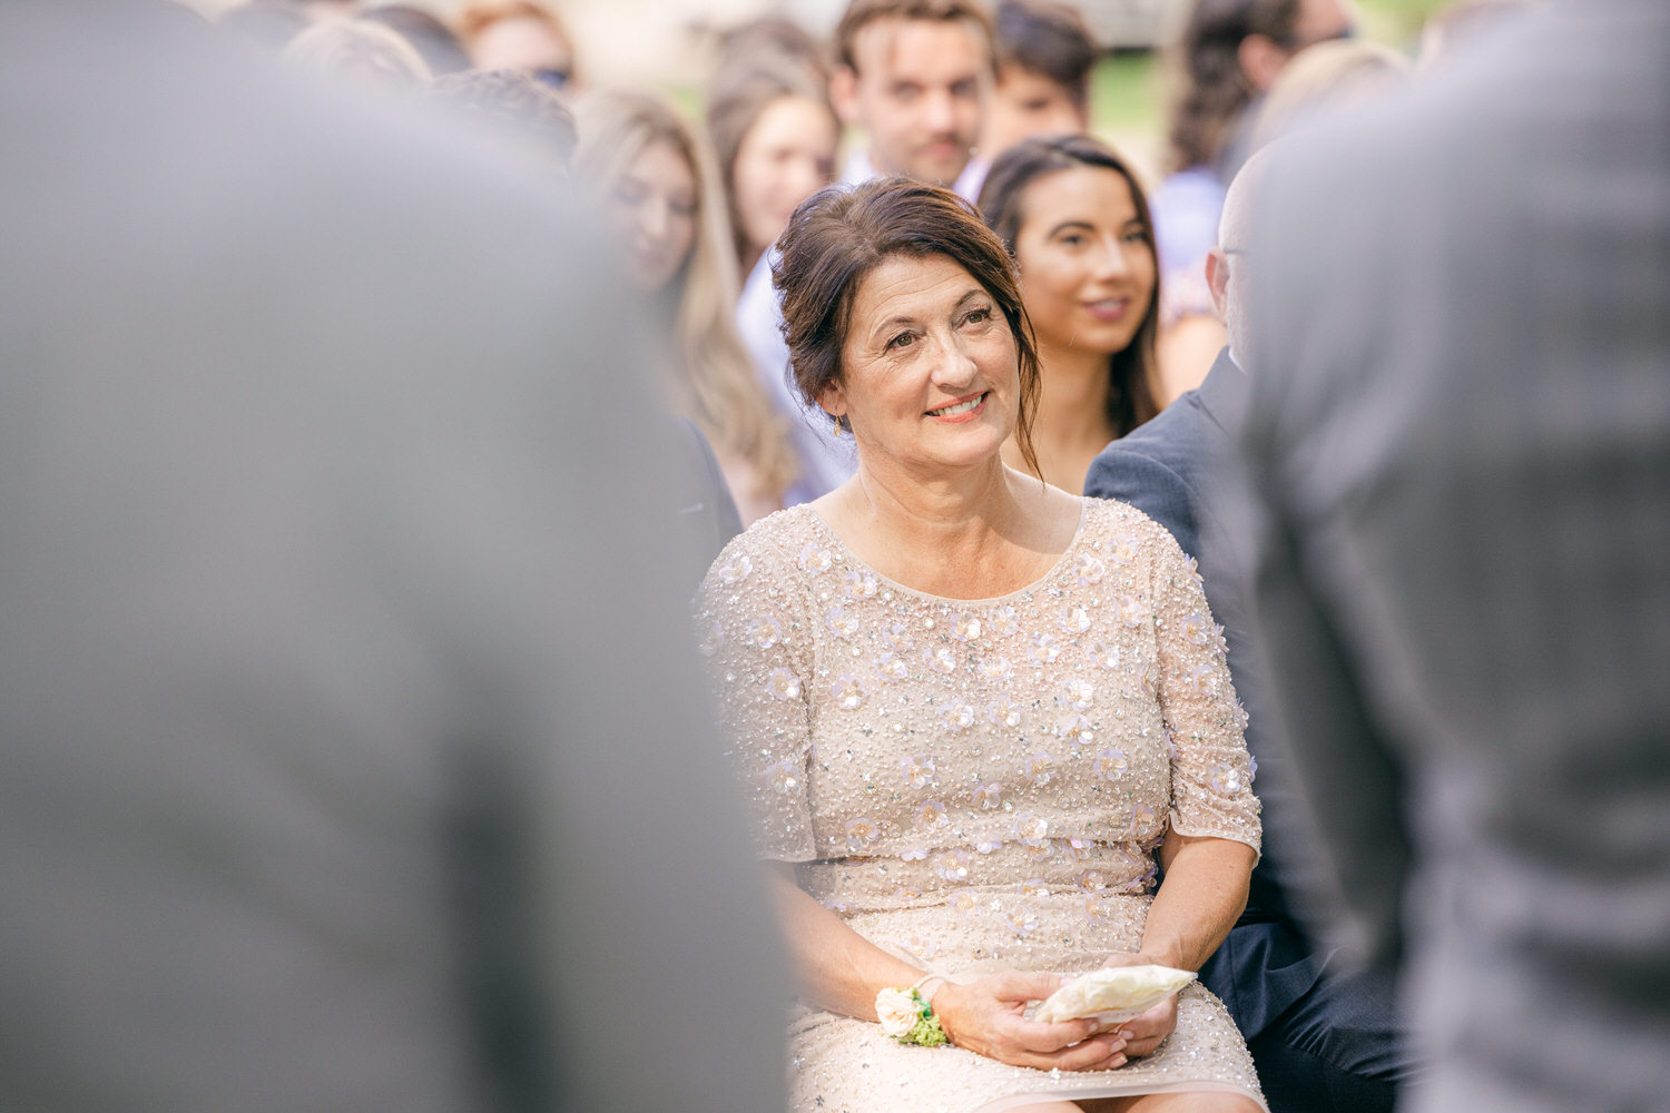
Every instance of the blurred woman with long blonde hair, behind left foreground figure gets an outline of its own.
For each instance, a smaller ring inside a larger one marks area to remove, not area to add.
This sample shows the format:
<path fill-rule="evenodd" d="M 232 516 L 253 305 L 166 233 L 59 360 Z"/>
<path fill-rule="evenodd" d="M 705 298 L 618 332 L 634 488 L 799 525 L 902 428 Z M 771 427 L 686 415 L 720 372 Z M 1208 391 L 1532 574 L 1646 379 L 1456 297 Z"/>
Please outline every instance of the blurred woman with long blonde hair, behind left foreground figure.
<path fill-rule="evenodd" d="M 648 92 L 588 93 L 578 123 L 574 177 L 603 197 L 626 274 L 661 309 L 675 404 L 711 442 L 746 526 L 782 509 L 795 462 L 731 319 L 736 260 L 713 157 Z"/>

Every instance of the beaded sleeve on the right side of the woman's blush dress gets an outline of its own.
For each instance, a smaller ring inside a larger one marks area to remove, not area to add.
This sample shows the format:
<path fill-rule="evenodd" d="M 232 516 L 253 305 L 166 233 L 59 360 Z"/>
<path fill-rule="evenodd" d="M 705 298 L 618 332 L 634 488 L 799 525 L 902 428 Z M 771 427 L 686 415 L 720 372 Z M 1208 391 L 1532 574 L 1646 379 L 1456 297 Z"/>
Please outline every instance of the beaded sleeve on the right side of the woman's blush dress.
<path fill-rule="evenodd" d="M 1159 699 L 1171 744 L 1171 826 L 1179 834 L 1246 843 L 1259 849 L 1263 826 L 1252 794 L 1246 711 L 1236 699 L 1224 629 L 1212 621 L 1194 561 L 1154 526 Z"/>

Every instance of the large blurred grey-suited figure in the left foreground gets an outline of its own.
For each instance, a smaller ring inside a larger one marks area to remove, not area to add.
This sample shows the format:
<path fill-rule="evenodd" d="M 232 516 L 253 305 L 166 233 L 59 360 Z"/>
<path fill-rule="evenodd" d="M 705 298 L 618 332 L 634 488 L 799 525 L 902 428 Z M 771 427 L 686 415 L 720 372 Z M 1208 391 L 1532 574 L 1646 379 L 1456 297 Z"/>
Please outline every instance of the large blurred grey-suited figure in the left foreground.
<path fill-rule="evenodd" d="M 600 245 L 154 12 L 0 7 L 0 1108 L 778 1108 Z"/>

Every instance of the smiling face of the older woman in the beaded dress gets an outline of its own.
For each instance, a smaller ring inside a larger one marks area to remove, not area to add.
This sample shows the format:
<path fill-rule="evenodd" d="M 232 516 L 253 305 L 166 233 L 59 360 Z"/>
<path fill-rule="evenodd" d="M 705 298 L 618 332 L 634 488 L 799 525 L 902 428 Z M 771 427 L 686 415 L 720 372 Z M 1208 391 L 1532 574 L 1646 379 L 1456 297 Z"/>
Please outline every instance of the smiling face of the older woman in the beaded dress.
<path fill-rule="evenodd" d="M 1020 367 L 997 300 L 947 255 L 890 255 L 852 302 L 842 379 L 818 395 L 852 422 L 860 459 L 934 476 L 997 456 Z"/>

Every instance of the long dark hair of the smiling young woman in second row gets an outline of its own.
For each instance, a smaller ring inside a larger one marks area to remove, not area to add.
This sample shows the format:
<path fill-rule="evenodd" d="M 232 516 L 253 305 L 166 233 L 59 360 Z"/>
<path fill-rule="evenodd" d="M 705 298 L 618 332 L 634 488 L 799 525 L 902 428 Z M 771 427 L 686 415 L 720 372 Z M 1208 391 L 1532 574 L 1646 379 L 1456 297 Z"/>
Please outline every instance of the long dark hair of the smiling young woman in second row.
<path fill-rule="evenodd" d="M 1025 219 L 1027 189 L 1040 177 L 1094 167 L 1112 170 L 1131 187 L 1131 202 L 1142 220 L 1149 250 L 1154 250 L 1154 219 L 1149 215 L 1147 197 L 1142 185 L 1131 172 L 1131 167 L 1112 152 L 1111 147 L 1089 135 L 1060 135 L 1052 138 L 1027 138 L 997 157 L 985 185 L 980 189 L 980 212 L 997 237 L 1004 242 L 1010 257 L 1015 254 L 1015 239 L 1020 235 L 1020 224 Z M 1154 335 L 1159 332 L 1159 267 L 1154 272 L 1154 294 L 1142 312 L 1142 324 L 1131 344 L 1122 352 L 1107 357 L 1107 375 L 1111 389 L 1107 392 L 1107 424 L 1116 437 L 1122 437 L 1149 417 L 1159 412 L 1149 392 L 1149 377 L 1154 369 Z"/>

